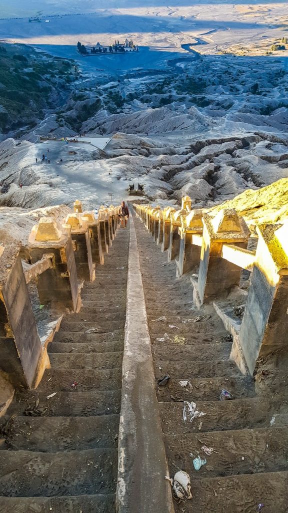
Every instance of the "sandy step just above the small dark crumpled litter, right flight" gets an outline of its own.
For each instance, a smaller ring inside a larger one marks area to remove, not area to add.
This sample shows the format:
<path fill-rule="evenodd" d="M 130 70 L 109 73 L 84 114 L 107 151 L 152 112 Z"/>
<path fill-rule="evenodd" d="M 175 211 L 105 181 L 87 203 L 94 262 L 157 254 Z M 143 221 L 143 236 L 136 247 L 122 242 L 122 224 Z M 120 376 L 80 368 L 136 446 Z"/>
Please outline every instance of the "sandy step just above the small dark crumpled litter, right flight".
<path fill-rule="evenodd" d="M 237 365 L 231 360 L 222 361 L 193 361 L 193 362 L 171 362 L 156 359 L 154 361 L 154 370 L 156 379 L 160 379 L 164 374 L 169 374 L 172 379 L 190 379 L 190 378 L 217 378 L 229 376 L 242 376 Z"/>

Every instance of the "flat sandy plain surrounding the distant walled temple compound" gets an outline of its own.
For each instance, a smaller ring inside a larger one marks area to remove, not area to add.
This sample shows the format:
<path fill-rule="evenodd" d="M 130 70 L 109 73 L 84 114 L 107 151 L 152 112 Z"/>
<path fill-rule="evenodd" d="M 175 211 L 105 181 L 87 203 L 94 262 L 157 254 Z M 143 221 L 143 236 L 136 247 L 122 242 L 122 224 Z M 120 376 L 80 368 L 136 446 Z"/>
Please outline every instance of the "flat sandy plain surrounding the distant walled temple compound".
<path fill-rule="evenodd" d="M 266 40 L 273 43 L 288 30 L 285 2 L 208 2 L 174 0 L 172 6 L 162 0 L 143 2 L 120 0 L 108 3 L 76 0 L 61 3 L 44 0 L 14 0 L 2 8 L 0 38 L 45 48 L 56 55 L 80 60 L 94 71 L 102 69 L 102 57 L 82 58 L 75 49 L 77 41 L 84 44 L 109 43 L 133 38 L 150 52 L 142 56 L 127 57 L 128 67 L 149 67 L 163 61 L 167 52 L 185 51 L 184 44 L 200 44 L 201 53 L 215 53 L 231 45 L 253 48 L 265 47 Z M 97 10 L 95 9 L 97 7 Z M 40 14 L 41 23 L 29 23 L 28 16 Z M 17 18 L 17 19 L 15 19 Z M 196 38 L 196 40 L 195 40 Z M 195 47 L 197 50 L 197 46 Z M 285 55 L 285 52 L 281 52 Z M 106 57 L 104 68 L 122 68 L 120 56 Z M 123 59 L 121 60 L 123 61 Z M 126 68 L 126 63 L 124 64 Z"/>

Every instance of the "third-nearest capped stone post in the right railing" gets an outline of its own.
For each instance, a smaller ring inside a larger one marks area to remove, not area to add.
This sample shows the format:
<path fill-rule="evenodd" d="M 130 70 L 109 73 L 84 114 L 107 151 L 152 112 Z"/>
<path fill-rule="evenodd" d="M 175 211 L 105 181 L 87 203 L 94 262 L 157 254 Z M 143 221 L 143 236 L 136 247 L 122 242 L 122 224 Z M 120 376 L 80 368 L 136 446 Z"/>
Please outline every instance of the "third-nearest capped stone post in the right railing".
<path fill-rule="evenodd" d="M 176 260 L 178 276 L 192 271 L 199 266 L 201 246 L 193 244 L 193 234 L 203 232 L 202 210 L 191 210 L 187 215 L 181 215 L 181 240 L 179 260 Z"/>

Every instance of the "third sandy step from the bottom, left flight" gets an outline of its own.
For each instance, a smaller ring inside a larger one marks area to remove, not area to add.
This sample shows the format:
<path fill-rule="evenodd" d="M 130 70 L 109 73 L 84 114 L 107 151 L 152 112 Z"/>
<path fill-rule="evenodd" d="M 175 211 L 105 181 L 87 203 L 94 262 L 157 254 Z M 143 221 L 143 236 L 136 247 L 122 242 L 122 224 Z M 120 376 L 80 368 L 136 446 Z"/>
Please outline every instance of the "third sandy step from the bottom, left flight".
<path fill-rule="evenodd" d="M 119 416 L 14 417 L 0 419 L 1 449 L 58 452 L 117 448 Z M 53 436 L 51 436 L 53 433 Z"/>

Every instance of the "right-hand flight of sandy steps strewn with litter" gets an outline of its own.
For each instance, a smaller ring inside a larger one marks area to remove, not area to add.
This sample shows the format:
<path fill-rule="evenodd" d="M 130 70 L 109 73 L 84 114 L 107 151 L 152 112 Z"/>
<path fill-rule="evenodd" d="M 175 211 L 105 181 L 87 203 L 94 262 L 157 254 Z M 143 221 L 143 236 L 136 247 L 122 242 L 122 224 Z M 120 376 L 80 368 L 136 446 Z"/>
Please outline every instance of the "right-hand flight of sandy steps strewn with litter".
<path fill-rule="evenodd" d="M 253 379 L 229 360 L 231 337 L 213 307 L 197 310 L 190 279 L 176 279 L 175 261 L 167 263 L 140 219 L 134 222 L 155 378 L 170 376 L 157 391 L 170 477 L 184 470 L 192 483 L 193 499 L 175 503 L 175 511 L 288 511 L 288 428 L 272 420 L 279 401 L 256 393 Z M 222 389 L 234 399 L 220 401 Z M 184 401 L 204 415 L 190 422 L 187 412 L 184 421 Z M 213 448 L 211 456 L 203 446 Z M 199 455 L 207 463 L 196 471 Z"/>

